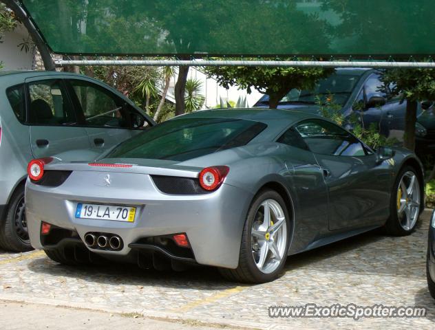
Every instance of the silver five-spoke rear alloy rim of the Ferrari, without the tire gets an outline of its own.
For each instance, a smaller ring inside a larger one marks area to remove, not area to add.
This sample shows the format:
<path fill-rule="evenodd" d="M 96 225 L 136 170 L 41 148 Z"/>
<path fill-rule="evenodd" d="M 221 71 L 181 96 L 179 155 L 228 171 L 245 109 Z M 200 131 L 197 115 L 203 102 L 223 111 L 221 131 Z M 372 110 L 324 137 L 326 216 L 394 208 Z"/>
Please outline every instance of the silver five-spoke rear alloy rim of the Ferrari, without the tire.
<path fill-rule="evenodd" d="M 257 268 L 264 274 L 275 272 L 287 246 L 284 210 L 275 199 L 260 204 L 251 228 L 251 248 Z"/>

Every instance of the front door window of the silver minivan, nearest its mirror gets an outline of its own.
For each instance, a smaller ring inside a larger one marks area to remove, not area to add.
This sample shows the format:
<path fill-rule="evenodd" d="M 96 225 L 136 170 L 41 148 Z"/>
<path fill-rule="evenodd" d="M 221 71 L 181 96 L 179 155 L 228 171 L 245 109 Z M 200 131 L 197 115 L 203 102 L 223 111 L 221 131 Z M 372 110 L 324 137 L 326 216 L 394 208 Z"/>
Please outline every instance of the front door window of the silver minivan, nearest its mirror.
<path fill-rule="evenodd" d="M 69 82 L 83 110 L 83 120 L 87 126 L 129 128 L 129 114 L 123 109 L 123 100 L 87 81 Z"/>

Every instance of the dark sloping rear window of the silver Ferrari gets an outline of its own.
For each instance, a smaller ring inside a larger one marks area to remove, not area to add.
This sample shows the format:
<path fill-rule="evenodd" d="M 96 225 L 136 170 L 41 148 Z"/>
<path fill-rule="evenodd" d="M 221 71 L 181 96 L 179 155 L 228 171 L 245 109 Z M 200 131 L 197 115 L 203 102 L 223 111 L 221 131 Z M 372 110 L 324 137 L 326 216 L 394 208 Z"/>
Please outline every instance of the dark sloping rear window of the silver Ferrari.
<path fill-rule="evenodd" d="M 229 118 L 169 120 L 119 144 L 107 158 L 147 158 L 184 161 L 236 146 L 244 146 L 266 124 Z"/>

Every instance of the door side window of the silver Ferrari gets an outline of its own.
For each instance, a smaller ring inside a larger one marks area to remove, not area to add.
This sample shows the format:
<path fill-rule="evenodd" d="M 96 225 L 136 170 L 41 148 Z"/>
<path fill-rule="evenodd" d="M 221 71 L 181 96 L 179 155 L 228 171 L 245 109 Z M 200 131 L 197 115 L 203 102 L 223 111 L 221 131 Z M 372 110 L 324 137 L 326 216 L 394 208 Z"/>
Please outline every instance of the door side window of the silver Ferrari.
<path fill-rule="evenodd" d="M 324 120 L 306 120 L 295 126 L 313 153 L 335 156 L 363 156 L 365 148 L 356 137 Z"/>

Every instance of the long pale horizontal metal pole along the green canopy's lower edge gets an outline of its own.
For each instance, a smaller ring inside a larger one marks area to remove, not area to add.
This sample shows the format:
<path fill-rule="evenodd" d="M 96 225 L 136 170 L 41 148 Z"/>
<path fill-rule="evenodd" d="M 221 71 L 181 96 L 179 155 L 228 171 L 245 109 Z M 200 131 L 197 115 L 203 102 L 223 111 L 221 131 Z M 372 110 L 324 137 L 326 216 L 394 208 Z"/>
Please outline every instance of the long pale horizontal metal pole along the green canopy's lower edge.
<path fill-rule="evenodd" d="M 367 67 L 367 68 L 435 68 L 434 62 L 382 62 L 382 61 L 213 61 L 213 60 L 91 60 L 55 61 L 57 67 L 78 66 L 189 66 L 189 67 Z"/>

